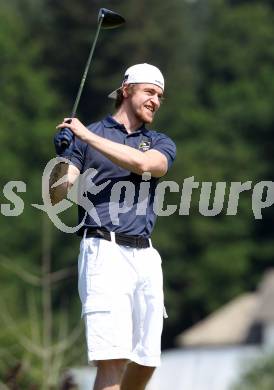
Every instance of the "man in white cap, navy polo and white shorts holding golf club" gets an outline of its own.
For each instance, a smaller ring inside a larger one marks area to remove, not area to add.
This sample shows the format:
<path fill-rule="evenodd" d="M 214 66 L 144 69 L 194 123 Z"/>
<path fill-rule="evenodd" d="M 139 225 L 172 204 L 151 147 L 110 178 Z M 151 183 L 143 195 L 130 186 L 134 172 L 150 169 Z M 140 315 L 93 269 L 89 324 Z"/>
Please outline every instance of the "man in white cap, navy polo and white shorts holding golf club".
<path fill-rule="evenodd" d="M 96 217 L 92 210 L 79 209 L 80 220 L 84 218 L 79 231 L 83 236 L 79 294 L 89 362 L 98 368 L 95 390 L 143 390 L 160 364 L 163 278 L 161 258 L 150 236 L 156 219 L 156 184 L 167 173 L 176 149 L 169 137 L 145 124 L 152 123 L 163 93 L 160 70 L 137 64 L 127 69 L 121 87 L 109 95 L 116 99 L 113 116 L 88 128 L 76 118 L 70 123 L 65 118 L 57 126 L 61 129 L 55 136 L 57 154 L 70 163 L 60 163 L 52 175 L 52 182 L 68 175 L 65 184 L 51 189 L 52 202 L 64 198 L 89 168 L 96 170 L 93 188 L 101 186 L 97 195 L 87 192 Z M 60 140 L 70 131 L 75 139 L 64 151 Z"/>

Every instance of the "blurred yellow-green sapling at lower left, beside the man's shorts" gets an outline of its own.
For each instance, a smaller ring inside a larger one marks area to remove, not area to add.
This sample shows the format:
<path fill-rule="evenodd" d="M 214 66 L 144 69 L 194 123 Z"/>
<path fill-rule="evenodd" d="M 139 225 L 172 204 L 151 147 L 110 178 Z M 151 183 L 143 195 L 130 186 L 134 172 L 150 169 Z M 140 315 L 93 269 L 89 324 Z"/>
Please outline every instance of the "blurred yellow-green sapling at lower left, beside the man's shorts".
<path fill-rule="evenodd" d="M 62 371 L 75 360 L 81 361 L 83 351 L 77 343 L 82 335 L 81 323 L 78 322 L 74 329 L 70 330 L 67 303 L 63 301 L 57 312 L 56 307 L 53 311 L 52 302 L 54 287 L 71 274 L 74 276 L 75 267 L 51 271 L 51 224 L 47 216 L 43 218 L 42 229 L 40 274 L 35 275 L 26 269 L 23 270 L 18 264 L 11 265 L 11 259 L 0 257 L 2 268 L 14 273 L 27 284 L 25 294 L 27 313 L 23 321 L 16 320 L 5 301 L 0 300 L 0 318 L 5 330 L 5 339 L 3 338 L 1 342 L 3 362 L 0 369 L 3 373 L 7 367 L 16 364 L 15 367 L 22 371 L 24 382 L 21 382 L 21 386 L 27 382 L 39 386 L 39 389 L 48 390 L 57 388 Z M 16 345 L 13 353 L 10 343 Z"/>

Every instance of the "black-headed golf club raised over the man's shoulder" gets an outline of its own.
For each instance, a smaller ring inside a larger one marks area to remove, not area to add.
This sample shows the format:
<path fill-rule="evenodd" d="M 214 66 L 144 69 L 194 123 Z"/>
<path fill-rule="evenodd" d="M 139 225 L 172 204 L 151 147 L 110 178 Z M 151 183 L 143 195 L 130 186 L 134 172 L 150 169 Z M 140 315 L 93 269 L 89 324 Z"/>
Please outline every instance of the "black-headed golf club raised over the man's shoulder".
<path fill-rule="evenodd" d="M 87 73 L 88 73 L 88 70 L 90 67 L 90 62 L 91 62 L 91 59 L 93 57 L 93 53 L 95 50 L 95 46 L 96 46 L 101 28 L 111 29 L 111 28 L 119 27 L 121 24 L 125 23 L 125 19 L 121 15 L 119 15 L 117 12 L 111 11 L 111 10 L 106 9 L 106 8 L 100 8 L 99 13 L 98 13 L 98 22 L 97 23 L 98 23 L 98 26 L 97 26 L 97 30 L 95 33 L 95 38 L 93 40 L 92 47 L 90 49 L 89 57 L 88 57 L 87 64 L 86 64 L 86 67 L 85 67 L 85 70 L 84 70 L 84 73 L 83 73 L 83 76 L 81 79 L 80 87 L 78 89 L 78 93 L 76 95 L 76 98 L 75 98 L 75 101 L 73 104 L 72 112 L 70 115 L 71 118 L 75 117 L 75 114 L 76 114 L 76 111 L 77 111 L 77 108 L 79 105 L 79 101 L 80 101 L 80 98 L 82 95 L 83 87 L 84 87 L 84 84 L 85 84 L 85 81 L 87 78 Z M 61 147 L 64 150 L 69 147 L 69 145 L 73 139 L 72 131 L 69 130 L 68 128 L 66 128 L 66 130 L 71 133 L 71 140 L 70 141 L 68 141 L 67 139 L 60 140 Z"/>

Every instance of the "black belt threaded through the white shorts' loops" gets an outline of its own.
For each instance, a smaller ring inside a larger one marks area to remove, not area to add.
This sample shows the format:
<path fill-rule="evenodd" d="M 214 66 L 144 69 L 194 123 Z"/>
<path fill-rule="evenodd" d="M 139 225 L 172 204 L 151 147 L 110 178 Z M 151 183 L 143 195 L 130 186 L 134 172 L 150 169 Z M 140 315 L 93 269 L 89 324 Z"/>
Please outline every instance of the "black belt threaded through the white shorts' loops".
<path fill-rule="evenodd" d="M 84 235 L 84 234 L 83 234 Z M 104 228 L 87 228 L 86 237 L 103 238 L 111 241 L 111 234 Z M 114 233 L 115 242 L 118 245 L 130 246 L 132 248 L 149 248 L 150 240 L 143 236 L 129 236 L 122 233 Z"/>

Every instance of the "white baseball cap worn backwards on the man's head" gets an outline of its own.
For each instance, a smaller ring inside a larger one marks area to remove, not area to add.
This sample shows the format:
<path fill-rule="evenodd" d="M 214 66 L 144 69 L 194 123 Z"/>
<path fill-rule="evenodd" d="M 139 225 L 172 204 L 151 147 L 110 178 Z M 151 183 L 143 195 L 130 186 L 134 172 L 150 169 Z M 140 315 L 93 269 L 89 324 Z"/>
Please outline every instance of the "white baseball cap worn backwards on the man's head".
<path fill-rule="evenodd" d="M 117 91 L 119 91 L 124 84 L 141 83 L 155 84 L 162 88 L 162 90 L 165 88 L 164 76 L 156 66 L 150 64 L 137 64 L 126 70 L 121 87 L 111 92 L 108 97 L 110 99 L 116 99 Z"/>

